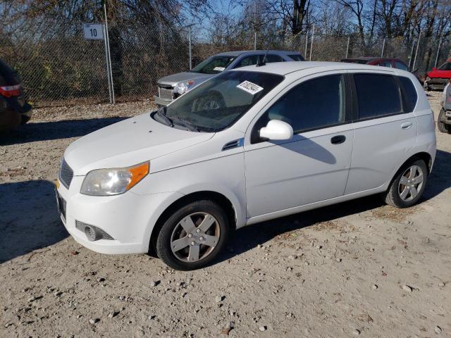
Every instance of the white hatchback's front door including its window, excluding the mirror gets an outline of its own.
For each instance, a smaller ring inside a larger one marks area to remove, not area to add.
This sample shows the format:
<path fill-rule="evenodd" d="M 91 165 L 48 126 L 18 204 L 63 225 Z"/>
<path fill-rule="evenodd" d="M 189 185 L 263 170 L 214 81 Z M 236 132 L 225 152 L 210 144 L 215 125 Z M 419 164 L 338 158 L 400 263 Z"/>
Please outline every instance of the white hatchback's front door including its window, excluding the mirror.
<path fill-rule="evenodd" d="M 247 217 L 342 196 L 352 155 L 345 77 L 331 73 L 292 84 L 252 127 L 245 145 Z M 288 141 L 265 141 L 259 129 L 283 120 Z"/>

